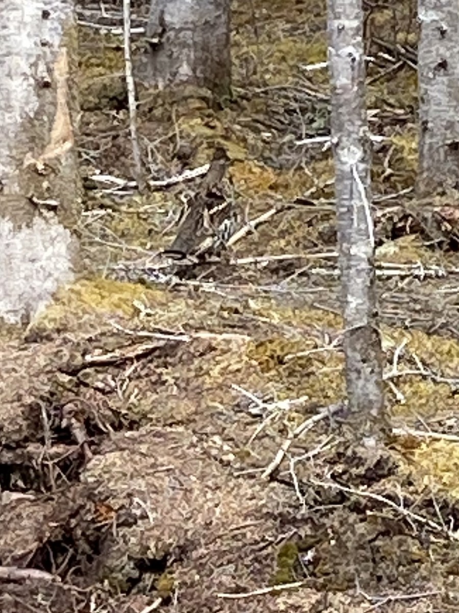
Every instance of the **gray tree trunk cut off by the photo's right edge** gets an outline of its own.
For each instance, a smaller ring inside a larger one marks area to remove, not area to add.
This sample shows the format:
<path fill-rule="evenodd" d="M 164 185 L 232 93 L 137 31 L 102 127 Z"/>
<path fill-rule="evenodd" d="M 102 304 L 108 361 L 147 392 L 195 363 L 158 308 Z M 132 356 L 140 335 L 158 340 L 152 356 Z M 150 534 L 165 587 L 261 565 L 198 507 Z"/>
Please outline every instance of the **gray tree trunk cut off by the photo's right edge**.
<path fill-rule="evenodd" d="M 459 9 L 451 0 L 419 0 L 419 172 L 430 196 L 459 189 Z"/>

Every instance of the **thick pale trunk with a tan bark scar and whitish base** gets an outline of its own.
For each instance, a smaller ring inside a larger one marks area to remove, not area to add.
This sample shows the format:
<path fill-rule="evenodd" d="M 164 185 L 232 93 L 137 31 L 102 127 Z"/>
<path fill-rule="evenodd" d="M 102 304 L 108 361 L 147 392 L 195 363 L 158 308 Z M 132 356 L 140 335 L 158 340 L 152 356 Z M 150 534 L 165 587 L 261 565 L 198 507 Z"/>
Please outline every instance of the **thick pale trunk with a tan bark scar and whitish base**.
<path fill-rule="evenodd" d="M 72 278 L 73 0 L 2 0 L 0 28 L 0 320 L 15 323 Z"/>

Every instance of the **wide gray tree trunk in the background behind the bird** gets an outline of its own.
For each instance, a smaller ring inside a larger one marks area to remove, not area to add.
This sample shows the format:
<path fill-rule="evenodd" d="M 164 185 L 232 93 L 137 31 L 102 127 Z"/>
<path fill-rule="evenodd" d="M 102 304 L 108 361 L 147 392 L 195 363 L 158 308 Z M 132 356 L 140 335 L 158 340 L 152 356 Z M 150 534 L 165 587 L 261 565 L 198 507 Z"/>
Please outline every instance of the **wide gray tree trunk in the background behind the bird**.
<path fill-rule="evenodd" d="M 147 46 L 136 75 L 160 89 L 182 83 L 228 95 L 230 0 L 151 0 Z"/>

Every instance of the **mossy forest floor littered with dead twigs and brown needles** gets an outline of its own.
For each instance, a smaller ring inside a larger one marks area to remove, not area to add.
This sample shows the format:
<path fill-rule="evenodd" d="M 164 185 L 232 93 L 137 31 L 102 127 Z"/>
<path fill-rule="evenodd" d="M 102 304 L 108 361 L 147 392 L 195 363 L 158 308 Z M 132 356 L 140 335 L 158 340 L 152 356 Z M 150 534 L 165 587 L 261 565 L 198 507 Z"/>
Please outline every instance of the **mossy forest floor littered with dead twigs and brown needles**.
<path fill-rule="evenodd" d="M 130 188 L 120 39 L 81 25 L 86 273 L 0 335 L 2 613 L 457 611 L 455 210 L 447 191 L 429 203 L 412 193 L 404 7 L 367 21 L 369 55 L 384 50 L 368 108 L 386 137 L 373 191 L 393 428 L 391 462 L 371 474 L 339 453 L 332 158 L 296 143 L 327 134 L 326 70 L 304 67 L 326 59 L 324 7 L 235 2 L 223 108 L 141 91 L 152 180 L 223 144 L 245 219 L 266 213 L 223 260 L 173 274 L 157 253 L 199 180 Z M 401 50 L 387 66 L 391 36 Z M 139 270 L 141 282 L 120 280 Z"/>

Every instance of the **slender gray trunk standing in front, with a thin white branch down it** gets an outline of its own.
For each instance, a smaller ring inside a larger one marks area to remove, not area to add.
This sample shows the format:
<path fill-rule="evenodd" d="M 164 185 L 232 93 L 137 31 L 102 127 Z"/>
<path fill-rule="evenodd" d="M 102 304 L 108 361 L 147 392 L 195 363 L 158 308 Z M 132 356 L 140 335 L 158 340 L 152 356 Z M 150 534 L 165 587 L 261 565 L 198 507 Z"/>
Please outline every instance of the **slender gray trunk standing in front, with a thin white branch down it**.
<path fill-rule="evenodd" d="M 365 107 L 361 0 L 328 1 L 331 131 L 351 431 L 378 438 L 384 419 L 381 341 L 376 329 L 371 141 Z"/>

